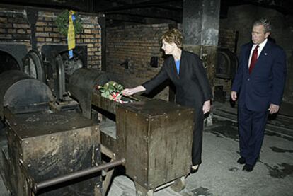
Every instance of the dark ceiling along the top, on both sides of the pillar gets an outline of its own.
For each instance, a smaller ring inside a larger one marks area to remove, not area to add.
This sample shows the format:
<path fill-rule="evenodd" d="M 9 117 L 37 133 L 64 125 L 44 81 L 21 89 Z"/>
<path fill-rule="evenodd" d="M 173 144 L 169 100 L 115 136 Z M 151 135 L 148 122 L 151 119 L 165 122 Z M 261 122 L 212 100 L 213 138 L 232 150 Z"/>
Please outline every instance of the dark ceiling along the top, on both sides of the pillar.
<path fill-rule="evenodd" d="M 215 0 L 217 1 L 217 0 Z M 108 25 L 122 23 L 182 23 L 183 0 L 2 0 L 1 4 L 36 6 L 90 13 L 103 13 Z M 222 0 L 220 17 L 225 18 L 231 6 L 253 4 L 292 14 L 292 0 Z"/>

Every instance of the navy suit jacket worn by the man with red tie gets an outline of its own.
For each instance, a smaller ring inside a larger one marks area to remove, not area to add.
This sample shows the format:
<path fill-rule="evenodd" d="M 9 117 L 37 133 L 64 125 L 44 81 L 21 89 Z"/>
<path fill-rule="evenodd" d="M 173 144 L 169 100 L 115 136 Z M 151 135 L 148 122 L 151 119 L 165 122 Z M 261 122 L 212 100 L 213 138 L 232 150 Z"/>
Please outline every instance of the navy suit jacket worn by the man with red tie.
<path fill-rule="evenodd" d="M 263 47 L 251 74 L 248 61 L 252 43 L 241 47 L 239 69 L 236 73 L 232 91 L 236 91 L 239 106 L 248 110 L 265 111 L 270 103 L 280 105 L 285 86 L 286 56 L 281 47 L 268 42 Z"/>

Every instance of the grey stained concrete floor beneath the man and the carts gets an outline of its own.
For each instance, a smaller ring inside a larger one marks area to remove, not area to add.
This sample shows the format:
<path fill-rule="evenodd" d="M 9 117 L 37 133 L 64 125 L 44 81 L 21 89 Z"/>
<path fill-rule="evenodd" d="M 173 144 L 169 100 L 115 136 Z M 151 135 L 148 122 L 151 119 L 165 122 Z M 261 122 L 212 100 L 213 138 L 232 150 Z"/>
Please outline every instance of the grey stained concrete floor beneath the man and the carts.
<path fill-rule="evenodd" d="M 293 132 L 293 130 L 292 130 Z M 217 195 L 293 195 L 293 137 L 270 128 L 265 133 L 260 160 L 251 173 L 242 171 L 239 158 L 238 130 L 235 120 L 215 115 L 212 127 L 203 135 L 202 164 L 197 173 L 187 176 L 186 188 L 174 192 L 163 188 L 155 196 Z M 5 188 L 0 180 L 0 195 Z M 108 196 L 134 196 L 134 183 L 125 175 L 116 175 Z"/>

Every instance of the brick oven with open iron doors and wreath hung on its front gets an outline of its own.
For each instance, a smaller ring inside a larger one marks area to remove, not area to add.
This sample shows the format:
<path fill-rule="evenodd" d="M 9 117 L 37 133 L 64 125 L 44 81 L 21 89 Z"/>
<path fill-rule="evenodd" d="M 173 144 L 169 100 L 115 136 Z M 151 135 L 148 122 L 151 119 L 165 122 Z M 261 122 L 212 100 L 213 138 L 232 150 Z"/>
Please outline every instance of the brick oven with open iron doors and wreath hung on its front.
<path fill-rule="evenodd" d="M 75 69 L 100 69 L 101 30 L 98 16 L 78 13 L 83 30 L 76 35 L 74 58 L 69 59 L 67 38 L 54 23 L 59 13 L 45 8 L 1 6 L 0 74 L 9 69 L 24 71 L 46 83 L 57 99 L 62 99 L 67 87 L 54 83 L 54 77 L 60 81 L 62 75 L 66 82 Z"/>

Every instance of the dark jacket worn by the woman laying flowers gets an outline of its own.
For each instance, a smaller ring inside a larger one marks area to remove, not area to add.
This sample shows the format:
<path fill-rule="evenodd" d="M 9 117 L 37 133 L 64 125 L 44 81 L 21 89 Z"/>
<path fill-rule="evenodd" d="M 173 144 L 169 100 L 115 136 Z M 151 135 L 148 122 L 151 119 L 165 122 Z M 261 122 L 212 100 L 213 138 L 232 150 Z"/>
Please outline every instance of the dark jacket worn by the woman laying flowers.
<path fill-rule="evenodd" d="M 207 80 L 205 68 L 196 54 L 182 50 L 180 71 L 177 74 L 173 56 L 163 62 L 159 73 L 151 80 L 143 83 L 146 93 L 166 79 L 171 79 L 176 87 L 176 103 L 192 108 L 202 107 L 206 100 L 212 98 L 212 91 Z"/>

